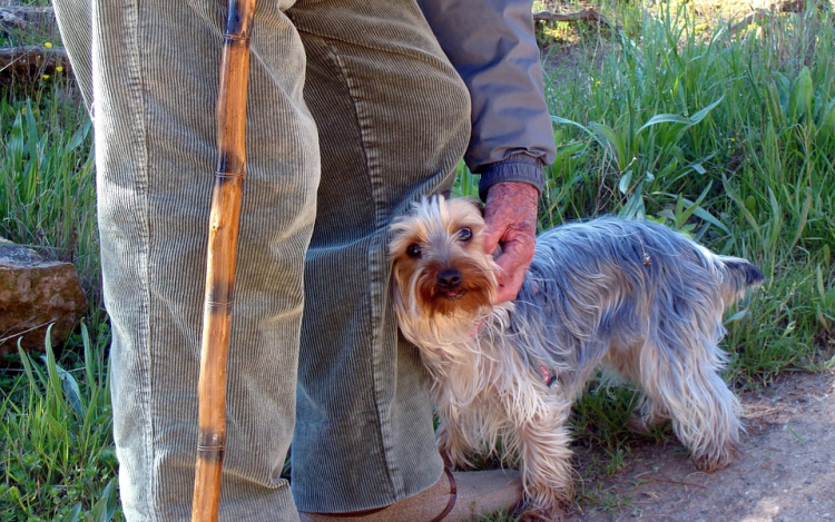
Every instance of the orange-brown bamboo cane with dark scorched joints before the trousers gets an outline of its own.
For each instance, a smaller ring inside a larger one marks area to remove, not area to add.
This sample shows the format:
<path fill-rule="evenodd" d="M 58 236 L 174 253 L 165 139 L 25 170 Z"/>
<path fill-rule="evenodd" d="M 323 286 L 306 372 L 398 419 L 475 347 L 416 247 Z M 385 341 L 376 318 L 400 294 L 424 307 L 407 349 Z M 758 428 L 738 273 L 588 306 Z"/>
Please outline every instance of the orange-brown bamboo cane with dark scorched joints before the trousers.
<path fill-rule="evenodd" d="M 217 162 L 212 188 L 203 309 L 198 426 L 191 521 L 216 521 L 226 450 L 226 360 L 229 348 L 240 195 L 246 173 L 246 89 L 255 0 L 229 0 L 217 98 Z"/>

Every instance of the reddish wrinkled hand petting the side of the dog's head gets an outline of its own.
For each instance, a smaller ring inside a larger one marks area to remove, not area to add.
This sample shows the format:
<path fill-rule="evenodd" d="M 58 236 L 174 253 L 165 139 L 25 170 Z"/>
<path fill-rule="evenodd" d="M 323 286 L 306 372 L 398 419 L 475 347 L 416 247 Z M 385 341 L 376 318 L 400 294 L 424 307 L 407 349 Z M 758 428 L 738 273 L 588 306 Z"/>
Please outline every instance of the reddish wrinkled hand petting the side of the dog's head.
<path fill-rule="evenodd" d="M 484 205 L 488 225 L 484 252 L 492 254 L 500 244 L 502 248 L 495 258 L 500 268 L 495 304 L 513 301 L 522 287 L 524 273 L 533 259 L 538 201 L 537 188 L 527 183 L 508 181 L 490 187 Z"/>

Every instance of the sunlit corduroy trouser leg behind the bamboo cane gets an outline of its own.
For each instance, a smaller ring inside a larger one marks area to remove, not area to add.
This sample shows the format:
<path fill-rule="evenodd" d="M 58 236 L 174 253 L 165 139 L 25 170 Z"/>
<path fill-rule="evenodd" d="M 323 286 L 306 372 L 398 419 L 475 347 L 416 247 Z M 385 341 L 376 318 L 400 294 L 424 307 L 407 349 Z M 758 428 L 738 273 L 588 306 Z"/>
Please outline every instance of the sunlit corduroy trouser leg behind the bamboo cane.
<path fill-rule="evenodd" d="M 95 112 L 114 435 L 130 521 L 190 519 L 196 383 L 225 2 L 57 0 Z M 292 437 L 317 134 L 304 49 L 259 2 L 252 42 L 220 519 L 297 520 L 279 477 Z"/>

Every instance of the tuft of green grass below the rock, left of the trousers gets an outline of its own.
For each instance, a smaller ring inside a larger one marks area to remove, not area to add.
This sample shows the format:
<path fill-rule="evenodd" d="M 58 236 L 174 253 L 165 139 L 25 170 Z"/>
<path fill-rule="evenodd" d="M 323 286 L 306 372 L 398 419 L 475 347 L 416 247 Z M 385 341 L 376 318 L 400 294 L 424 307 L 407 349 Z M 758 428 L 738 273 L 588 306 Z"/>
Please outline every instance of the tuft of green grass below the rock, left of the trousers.
<path fill-rule="evenodd" d="M 49 336 L 40 363 L 19 352 L 23 372 L 0 402 L 0 521 L 106 522 L 118 512 L 105 346 L 84 325 L 81 338 L 75 372 L 56 362 Z"/>

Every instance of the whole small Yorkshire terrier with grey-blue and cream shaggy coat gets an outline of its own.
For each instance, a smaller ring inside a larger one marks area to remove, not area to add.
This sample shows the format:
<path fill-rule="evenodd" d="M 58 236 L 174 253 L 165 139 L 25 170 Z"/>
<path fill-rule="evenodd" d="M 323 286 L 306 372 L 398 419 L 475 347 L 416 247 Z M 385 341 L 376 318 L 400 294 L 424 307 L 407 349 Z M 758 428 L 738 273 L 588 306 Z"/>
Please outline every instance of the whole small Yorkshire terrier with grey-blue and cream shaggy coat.
<path fill-rule="evenodd" d="M 392 227 L 393 303 L 431 373 L 438 444 L 453 467 L 479 449 L 514 455 L 534 519 L 573 495 L 571 404 L 596 370 L 641 392 L 638 421 L 670 420 L 696 465 L 728 465 L 743 426 L 719 372 L 726 306 L 763 280 L 644 220 L 599 218 L 540 234 L 512 304 L 493 305 L 478 205 L 423 199 Z"/>

